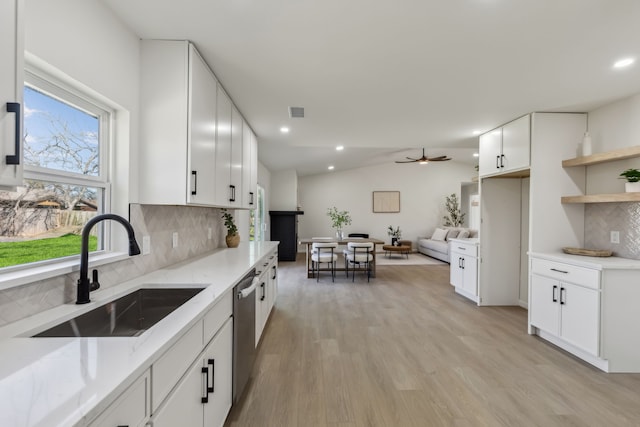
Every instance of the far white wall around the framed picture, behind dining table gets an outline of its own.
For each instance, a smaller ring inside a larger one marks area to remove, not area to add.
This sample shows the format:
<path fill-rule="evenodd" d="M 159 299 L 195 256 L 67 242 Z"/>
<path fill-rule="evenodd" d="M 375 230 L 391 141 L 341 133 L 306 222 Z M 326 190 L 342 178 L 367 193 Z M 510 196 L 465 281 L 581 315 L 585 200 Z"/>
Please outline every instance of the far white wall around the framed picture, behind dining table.
<path fill-rule="evenodd" d="M 472 165 L 455 161 L 443 163 L 396 164 L 389 161 L 344 172 L 300 177 L 298 235 L 333 236 L 327 209 L 335 206 L 351 214 L 348 233 L 368 233 L 372 238 L 390 241 L 387 227 L 400 226 L 402 238 L 414 242 L 442 224 L 445 197 L 460 196 L 460 183 L 475 174 Z M 373 191 L 400 191 L 399 213 L 373 213 Z M 299 250 L 304 250 L 299 248 Z"/>

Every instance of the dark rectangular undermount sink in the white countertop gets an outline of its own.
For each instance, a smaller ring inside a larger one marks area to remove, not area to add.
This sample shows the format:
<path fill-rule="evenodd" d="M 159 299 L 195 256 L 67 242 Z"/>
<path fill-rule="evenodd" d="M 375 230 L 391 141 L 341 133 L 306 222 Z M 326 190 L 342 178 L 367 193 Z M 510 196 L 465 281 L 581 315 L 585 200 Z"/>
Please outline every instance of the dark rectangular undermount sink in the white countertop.
<path fill-rule="evenodd" d="M 133 337 L 167 317 L 204 288 L 142 288 L 36 337 Z"/>

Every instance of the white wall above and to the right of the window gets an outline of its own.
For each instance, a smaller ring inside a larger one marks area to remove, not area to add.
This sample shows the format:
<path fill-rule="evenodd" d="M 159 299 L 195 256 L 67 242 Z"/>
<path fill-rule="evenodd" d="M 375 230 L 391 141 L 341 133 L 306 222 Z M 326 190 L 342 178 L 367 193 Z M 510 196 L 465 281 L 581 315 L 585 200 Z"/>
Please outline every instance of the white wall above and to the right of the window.
<path fill-rule="evenodd" d="M 118 195 L 112 211 L 126 215 L 138 194 L 138 37 L 101 2 L 26 0 L 25 6 L 25 50 L 60 70 L 61 77 L 91 88 L 117 111 L 114 150 L 130 166 L 112 172 Z"/>

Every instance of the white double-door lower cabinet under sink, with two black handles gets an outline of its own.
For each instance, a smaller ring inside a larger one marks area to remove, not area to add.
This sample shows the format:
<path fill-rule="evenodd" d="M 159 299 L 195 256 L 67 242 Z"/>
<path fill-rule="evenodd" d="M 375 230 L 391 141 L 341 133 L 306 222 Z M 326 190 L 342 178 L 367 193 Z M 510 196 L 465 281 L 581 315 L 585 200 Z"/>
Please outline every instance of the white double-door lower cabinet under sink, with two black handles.
<path fill-rule="evenodd" d="M 154 414 L 154 427 L 224 425 L 231 409 L 232 345 L 229 318 Z"/>

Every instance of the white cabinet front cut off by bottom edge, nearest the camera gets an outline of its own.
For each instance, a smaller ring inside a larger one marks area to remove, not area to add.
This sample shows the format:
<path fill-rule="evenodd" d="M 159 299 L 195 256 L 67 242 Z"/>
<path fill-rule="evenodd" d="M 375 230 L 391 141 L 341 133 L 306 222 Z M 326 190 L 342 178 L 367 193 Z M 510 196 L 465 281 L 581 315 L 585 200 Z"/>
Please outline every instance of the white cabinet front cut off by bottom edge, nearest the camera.
<path fill-rule="evenodd" d="M 89 423 L 89 427 L 142 427 L 147 425 L 151 414 L 150 382 L 151 375 L 147 370 L 102 414 Z"/>

